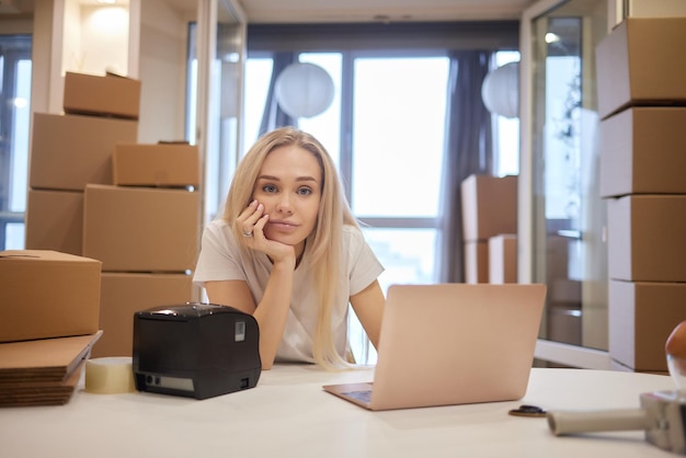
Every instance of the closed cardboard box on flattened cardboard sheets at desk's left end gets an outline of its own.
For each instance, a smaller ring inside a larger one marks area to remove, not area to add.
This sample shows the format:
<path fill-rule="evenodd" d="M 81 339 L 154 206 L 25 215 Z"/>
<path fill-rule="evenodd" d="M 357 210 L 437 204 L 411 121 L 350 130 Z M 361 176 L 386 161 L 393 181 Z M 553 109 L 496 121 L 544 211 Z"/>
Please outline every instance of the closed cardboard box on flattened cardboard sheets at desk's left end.
<path fill-rule="evenodd" d="M 0 252 L 0 407 L 64 404 L 99 331 L 101 263 Z"/>

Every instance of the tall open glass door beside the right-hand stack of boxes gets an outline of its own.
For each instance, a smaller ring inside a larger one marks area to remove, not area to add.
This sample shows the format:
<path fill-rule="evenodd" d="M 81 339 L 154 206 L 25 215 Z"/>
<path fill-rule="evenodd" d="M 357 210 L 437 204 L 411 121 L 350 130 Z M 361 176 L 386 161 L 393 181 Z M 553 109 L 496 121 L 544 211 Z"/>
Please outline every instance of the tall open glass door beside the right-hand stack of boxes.
<path fill-rule="evenodd" d="M 541 340 L 586 350 L 548 360 L 604 366 L 608 360 L 605 204 L 598 192 L 595 47 L 607 34 L 608 1 L 569 0 L 530 21 L 530 278 L 548 286 Z M 551 3 L 551 2 L 545 2 Z M 526 42 L 523 42 L 526 43 Z M 528 53 L 527 53 L 528 54 Z M 523 144 L 524 146 L 524 144 Z M 526 164 L 525 164 L 526 162 Z M 521 203 L 522 204 L 522 203 Z M 582 352 L 583 353 L 583 352 Z"/>

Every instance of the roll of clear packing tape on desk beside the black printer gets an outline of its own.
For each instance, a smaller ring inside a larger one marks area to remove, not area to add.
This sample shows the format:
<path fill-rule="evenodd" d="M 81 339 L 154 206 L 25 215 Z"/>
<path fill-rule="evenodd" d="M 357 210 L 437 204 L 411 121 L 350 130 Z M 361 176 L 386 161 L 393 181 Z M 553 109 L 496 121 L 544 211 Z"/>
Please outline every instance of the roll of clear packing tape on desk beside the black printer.
<path fill-rule="evenodd" d="M 85 391 L 115 394 L 136 391 L 130 357 L 93 358 L 85 362 Z"/>

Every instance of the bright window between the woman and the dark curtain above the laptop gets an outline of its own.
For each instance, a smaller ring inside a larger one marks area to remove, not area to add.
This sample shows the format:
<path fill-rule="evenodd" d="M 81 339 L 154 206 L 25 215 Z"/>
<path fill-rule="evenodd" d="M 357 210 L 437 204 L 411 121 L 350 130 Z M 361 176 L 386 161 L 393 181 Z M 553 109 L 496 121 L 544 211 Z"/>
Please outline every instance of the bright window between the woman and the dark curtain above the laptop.
<path fill-rule="evenodd" d="M 354 64 L 351 205 L 370 228 L 379 282 L 432 283 L 447 57 L 358 57 Z M 420 83 L 418 83 L 420 82 Z"/>

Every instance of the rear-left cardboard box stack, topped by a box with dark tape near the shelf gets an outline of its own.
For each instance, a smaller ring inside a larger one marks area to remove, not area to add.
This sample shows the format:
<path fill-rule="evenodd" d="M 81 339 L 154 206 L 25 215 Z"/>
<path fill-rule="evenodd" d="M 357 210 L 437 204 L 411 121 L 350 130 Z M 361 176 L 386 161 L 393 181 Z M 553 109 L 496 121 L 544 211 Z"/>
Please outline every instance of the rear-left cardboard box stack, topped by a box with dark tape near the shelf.
<path fill-rule="evenodd" d="M 139 94 L 136 80 L 68 72 L 66 114 L 34 114 L 27 249 L 82 253 L 85 185 L 112 184 L 114 145 L 138 138 Z"/>

